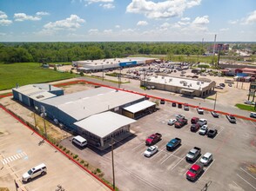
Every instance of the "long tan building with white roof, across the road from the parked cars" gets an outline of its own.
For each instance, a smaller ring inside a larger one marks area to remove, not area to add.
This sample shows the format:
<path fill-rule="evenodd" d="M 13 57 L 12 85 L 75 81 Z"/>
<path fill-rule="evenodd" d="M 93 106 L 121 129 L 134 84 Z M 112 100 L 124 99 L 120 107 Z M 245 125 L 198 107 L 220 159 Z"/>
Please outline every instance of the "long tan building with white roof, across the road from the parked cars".
<path fill-rule="evenodd" d="M 150 76 L 140 81 L 141 86 L 154 86 L 155 89 L 171 91 L 183 95 L 204 97 L 214 90 L 216 82 L 191 80 L 170 76 Z"/>

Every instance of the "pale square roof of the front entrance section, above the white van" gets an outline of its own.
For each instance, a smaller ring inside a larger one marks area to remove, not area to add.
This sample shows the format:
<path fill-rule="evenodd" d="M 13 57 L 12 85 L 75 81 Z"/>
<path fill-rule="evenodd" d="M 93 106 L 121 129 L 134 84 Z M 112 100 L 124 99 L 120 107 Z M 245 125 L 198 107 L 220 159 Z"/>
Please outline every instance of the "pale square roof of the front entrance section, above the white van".
<path fill-rule="evenodd" d="M 74 124 L 79 128 L 84 128 L 84 130 L 104 138 L 106 135 L 110 135 L 118 128 L 129 125 L 132 122 L 136 121 L 124 115 L 118 115 L 114 112 L 107 111 L 104 113 L 91 115 L 90 117 L 82 121 L 75 122 Z"/>

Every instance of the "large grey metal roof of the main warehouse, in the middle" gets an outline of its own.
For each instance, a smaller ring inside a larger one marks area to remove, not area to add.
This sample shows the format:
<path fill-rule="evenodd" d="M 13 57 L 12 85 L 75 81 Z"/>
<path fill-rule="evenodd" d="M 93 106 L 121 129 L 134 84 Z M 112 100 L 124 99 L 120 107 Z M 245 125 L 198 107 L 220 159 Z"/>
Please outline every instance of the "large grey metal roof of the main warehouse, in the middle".
<path fill-rule="evenodd" d="M 115 109 L 143 98 L 145 98 L 143 95 L 101 87 L 70 95 L 60 95 L 42 102 L 57 107 L 79 121 L 90 115 Z"/>

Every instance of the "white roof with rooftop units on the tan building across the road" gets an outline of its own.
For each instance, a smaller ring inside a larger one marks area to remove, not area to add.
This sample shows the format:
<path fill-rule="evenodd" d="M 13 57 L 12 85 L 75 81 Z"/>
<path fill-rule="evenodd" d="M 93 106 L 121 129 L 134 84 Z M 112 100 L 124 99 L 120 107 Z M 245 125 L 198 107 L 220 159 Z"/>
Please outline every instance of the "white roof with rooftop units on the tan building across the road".
<path fill-rule="evenodd" d="M 172 85 L 184 89 L 203 89 L 210 85 L 211 82 L 203 82 L 179 77 L 170 77 L 170 76 L 149 76 L 145 82 L 156 82 L 166 85 Z"/>

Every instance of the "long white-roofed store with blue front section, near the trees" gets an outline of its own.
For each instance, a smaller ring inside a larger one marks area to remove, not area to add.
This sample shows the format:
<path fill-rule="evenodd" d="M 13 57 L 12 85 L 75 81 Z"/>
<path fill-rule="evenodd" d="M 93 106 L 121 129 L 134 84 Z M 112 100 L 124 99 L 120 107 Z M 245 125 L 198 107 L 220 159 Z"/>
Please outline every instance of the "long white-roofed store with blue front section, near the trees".
<path fill-rule="evenodd" d="M 135 67 L 142 64 L 154 63 L 156 61 L 156 58 L 126 57 L 102 60 L 73 61 L 72 65 L 77 67 L 77 71 L 98 72 L 106 69 L 118 69 L 120 67 Z"/>

